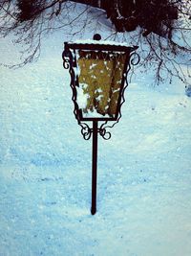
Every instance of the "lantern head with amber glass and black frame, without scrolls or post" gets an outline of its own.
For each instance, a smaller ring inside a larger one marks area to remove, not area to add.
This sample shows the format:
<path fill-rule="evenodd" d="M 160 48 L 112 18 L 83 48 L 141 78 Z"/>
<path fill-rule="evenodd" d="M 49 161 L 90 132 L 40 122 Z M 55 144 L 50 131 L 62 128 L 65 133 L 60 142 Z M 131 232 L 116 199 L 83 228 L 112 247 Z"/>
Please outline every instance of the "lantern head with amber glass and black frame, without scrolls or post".
<path fill-rule="evenodd" d="M 71 52 L 75 116 L 79 121 L 117 121 L 129 58 L 135 48 L 65 43 Z"/>

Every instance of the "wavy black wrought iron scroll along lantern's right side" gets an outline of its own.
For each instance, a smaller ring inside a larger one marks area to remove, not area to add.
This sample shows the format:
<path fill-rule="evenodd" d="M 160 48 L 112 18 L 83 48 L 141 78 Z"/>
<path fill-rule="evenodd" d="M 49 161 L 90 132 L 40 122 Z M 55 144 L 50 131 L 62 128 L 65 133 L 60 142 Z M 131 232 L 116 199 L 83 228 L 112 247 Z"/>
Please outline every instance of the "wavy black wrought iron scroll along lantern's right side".
<path fill-rule="evenodd" d="M 138 47 L 135 47 L 135 50 L 137 50 Z M 99 133 L 100 135 L 105 139 L 108 140 L 111 138 L 111 133 L 109 131 L 106 131 L 107 128 L 114 128 L 114 126 L 119 122 L 122 114 L 121 114 L 121 106 L 125 103 L 125 97 L 124 97 L 124 92 L 125 89 L 128 86 L 128 80 L 127 80 L 127 75 L 129 73 L 129 71 L 131 70 L 132 66 L 136 66 L 139 63 L 139 55 L 136 52 L 133 52 L 132 54 L 130 54 L 129 59 L 128 59 L 128 65 L 127 65 L 127 70 L 124 73 L 124 77 L 125 77 L 125 82 L 126 84 L 124 85 L 122 91 L 121 91 L 121 103 L 119 105 L 119 112 L 118 112 L 118 118 L 117 121 L 115 123 L 113 123 L 112 126 L 107 126 L 108 121 L 106 121 L 105 123 L 103 123 L 101 125 L 101 127 L 99 128 Z"/>

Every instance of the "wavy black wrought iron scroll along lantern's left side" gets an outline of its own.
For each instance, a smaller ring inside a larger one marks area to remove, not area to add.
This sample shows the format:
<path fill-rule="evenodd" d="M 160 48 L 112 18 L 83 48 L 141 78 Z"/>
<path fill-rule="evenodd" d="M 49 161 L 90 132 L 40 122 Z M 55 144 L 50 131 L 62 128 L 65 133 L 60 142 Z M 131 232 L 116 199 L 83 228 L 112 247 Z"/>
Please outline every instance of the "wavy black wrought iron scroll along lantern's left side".
<path fill-rule="evenodd" d="M 63 67 L 65 69 L 69 69 L 69 73 L 71 75 L 71 84 L 70 85 L 71 85 L 71 88 L 73 91 L 72 101 L 74 103 L 74 116 L 75 116 L 75 119 L 77 120 L 78 125 L 81 127 L 81 134 L 82 134 L 83 138 L 85 140 L 89 140 L 91 138 L 92 129 L 87 124 L 82 123 L 79 120 L 79 116 L 78 116 L 79 109 L 78 109 L 78 105 L 76 103 L 77 92 L 76 92 L 76 88 L 75 88 L 75 74 L 74 74 L 74 67 L 76 66 L 76 58 L 75 58 L 75 54 L 73 56 L 67 43 L 65 44 L 65 49 L 62 54 L 62 58 L 63 58 Z"/>

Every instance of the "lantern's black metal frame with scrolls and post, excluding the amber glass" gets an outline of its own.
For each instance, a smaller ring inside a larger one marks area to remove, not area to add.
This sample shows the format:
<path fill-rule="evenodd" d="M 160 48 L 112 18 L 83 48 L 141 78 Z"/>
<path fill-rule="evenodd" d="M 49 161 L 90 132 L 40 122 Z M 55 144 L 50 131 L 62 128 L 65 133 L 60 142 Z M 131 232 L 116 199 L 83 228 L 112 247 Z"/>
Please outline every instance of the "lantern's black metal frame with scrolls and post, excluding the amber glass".
<path fill-rule="evenodd" d="M 116 44 L 104 44 L 104 43 L 64 43 L 64 51 L 62 54 L 63 67 L 69 69 L 71 75 L 71 88 L 73 90 L 72 100 L 74 103 L 74 116 L 77 120 L 78 125 L 81 127 L 81 134 L 85 140 L 89 140 L 93 134 L 93 161 L 92 161 L 92 214 L 96 214 L 96 165 L 97 165 L 97 133 L 99 133 L 103 139 L 108 140 L 111 138 L 111 132 L 107 131 L 107 128 L 113 128 L 121 118 L 121 105 L 125 102 L 124 91 L 128 86 L 127 75 L 132 67 L 132 65 L 137 65 L 139 62 L 138 53 L 135 51 L 138 46 L 127 47 L 123 45 Z M 123 53 L 126 54 L 126 59 L 124 62 L 124 68 L 122 72 L 121 84 L 117 99 L 117 112 L 115 117 L 83 117 L 79 106 L 77 105 L 77 90 L 76 87 L 79 86 L 78 75 L 75 74 L 75 68 L 77 67 L 76 51 L 84 50 L 91 52 L 109 52 L 109 53 Z M 93 122 L 93 127 L 86 122 Z M 113 121 L 113 125 L 107 125 L 108 121 Z M 98 128 L 98 122 L 104 122 Z"/>

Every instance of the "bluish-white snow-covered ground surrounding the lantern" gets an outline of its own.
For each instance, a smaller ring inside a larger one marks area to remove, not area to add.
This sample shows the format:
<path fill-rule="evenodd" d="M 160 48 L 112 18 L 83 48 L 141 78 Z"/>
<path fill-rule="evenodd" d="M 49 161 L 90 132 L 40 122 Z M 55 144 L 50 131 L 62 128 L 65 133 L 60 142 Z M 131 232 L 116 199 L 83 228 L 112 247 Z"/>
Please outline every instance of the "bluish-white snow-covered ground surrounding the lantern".
<path fill-rule="evenodd" d="M 64 40 L 57 32 L 37 62 L 0 67 L 0 256 L 190 256 L 184 85 L 153 87 L 149 72 L 133 76 L 112 138 L 98 138 L 91 216 L 92 142 L 74 119 Z M 14 51 L 11 38 L 0 41 L 1 60 L 11 62 Z"/>

